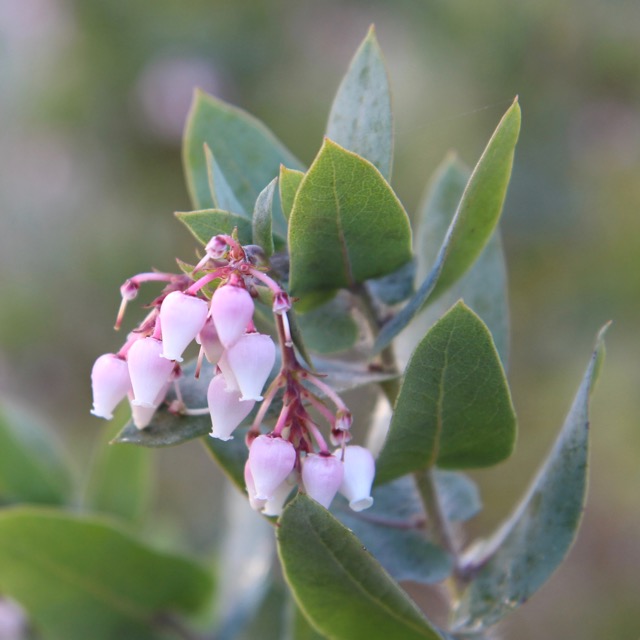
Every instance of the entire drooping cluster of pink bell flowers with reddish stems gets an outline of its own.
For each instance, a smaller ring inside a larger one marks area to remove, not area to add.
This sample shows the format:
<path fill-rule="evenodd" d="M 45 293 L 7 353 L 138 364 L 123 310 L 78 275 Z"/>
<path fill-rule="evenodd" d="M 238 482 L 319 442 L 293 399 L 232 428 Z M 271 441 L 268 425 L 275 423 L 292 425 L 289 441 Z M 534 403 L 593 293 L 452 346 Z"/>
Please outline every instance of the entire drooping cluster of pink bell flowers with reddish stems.
<path fill-rule="evenodd" d="M 200 345 L 196 375 L 204 358 L 214 365 L 206 409 L 212 437 L 231 439 L 256 403 L 262 402 L 246 435 L 245 481 L 253 508 L 266 515 L 280 514 L 297 484 L 325 507 L 340 491 L 352 509 L 366 509 L 373 502 L 373 456 L 364 447 L 347 446 L 349 409 L 328 384 L 298 362 L 287 316 L 289 296 L 258 266 L 259 248 L 242 246 L 234 236 L 218 235 L 205 251 L 189 275 L 144 273 L 121 287 L 116 328 L 141 283 L 167 283 L 122 348 L 100 356 L 94 364 L 92 413 L 110 419 L 114 408 L 128 398 L 134 424 L 144 429 L 172 384 L 177 396 L 174 411 L 202 412 L 184 406 L 175 384 L 182 374 L 183 353 L 195 340 Z M 280 371 L 264 396 L 276 346 L 253 323 L 254 298 L 260 287 L 271 292 L 281 354 Z M 276 398 L 282 402 L 281 410 L 274 428 L 263 434 L 263 422 Z M 335 451 L 329 450 L 310 410 L 328 423 Z"/>

